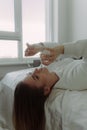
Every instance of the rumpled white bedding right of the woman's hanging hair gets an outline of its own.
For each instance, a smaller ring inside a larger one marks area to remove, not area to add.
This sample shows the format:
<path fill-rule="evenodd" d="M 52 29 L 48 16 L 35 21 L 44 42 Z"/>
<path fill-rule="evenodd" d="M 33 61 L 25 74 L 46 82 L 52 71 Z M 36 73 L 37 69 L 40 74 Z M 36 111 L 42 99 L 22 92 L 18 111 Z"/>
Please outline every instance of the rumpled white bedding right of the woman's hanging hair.
<path fill-rule="evenodd" d="M 46 130 L 87 130 L 87 91 L 54 89 L 45 113 Z"/>

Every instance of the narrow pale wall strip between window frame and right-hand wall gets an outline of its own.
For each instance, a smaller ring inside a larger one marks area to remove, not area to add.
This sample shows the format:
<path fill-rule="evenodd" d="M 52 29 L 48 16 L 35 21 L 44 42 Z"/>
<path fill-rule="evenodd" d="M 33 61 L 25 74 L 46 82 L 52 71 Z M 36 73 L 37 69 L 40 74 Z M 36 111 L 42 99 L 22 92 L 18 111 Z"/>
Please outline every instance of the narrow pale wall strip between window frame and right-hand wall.
<path fill-rule="evenodd" d="M 68 40 L 68 1 L 59 0 L 58 2 L 58 41 L 59 43 Z"/>

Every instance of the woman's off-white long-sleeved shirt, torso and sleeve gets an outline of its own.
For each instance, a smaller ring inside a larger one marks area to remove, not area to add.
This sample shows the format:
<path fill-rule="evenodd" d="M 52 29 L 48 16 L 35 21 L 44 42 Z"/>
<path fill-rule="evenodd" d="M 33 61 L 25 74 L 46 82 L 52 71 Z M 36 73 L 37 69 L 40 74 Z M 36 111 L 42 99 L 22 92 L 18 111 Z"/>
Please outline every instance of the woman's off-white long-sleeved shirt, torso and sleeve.
<path fill-rule="evenodd" d="M 53 46 L 55 45 L 58 44 L 53 44 Z M 52 47 L 52 44 L 45 43 L 45 46 Z M 87 40 L 64 44 L 64 55 L 67 55 L 67 58 L 60 56 L 61 58 L 57 58 L 47 67 L 49 71 L 55 72 L 60 77 L 54 88 L 87 89 Z M 83 57 L 81 60 L 72 58 L 81 56 Z"/>

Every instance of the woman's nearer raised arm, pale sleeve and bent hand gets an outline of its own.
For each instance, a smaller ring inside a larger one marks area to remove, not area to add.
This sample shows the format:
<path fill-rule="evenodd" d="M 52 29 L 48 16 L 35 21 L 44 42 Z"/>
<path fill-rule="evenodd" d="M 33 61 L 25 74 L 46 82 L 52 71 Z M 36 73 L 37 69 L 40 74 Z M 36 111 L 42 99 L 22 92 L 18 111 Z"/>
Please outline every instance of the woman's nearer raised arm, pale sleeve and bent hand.
<path fill-rule="evenodd" d="M 50 55 L 41 55 L 42 63 L 44 63 L 45 59 L 48 59 L 48 64 L 53 62 L 60 54 L 65 54 L 68 57 L 87 58 L 87 39 L 78 40 L 71 43 L 64 43 L 62 45 L 55 44 L 56 46 L 50 50 Z"/>

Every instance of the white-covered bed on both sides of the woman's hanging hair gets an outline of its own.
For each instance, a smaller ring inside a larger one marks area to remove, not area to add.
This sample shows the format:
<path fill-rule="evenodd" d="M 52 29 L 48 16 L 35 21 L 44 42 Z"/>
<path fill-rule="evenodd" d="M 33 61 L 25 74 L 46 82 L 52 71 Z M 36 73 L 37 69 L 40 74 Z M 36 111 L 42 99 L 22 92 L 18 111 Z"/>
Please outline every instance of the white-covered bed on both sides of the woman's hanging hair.
<path fill-rule="evenodd" d="M 35 68 L 7 73 L 0 81 L 0 130 L 13 130 L 16 84 Z M 87 91 L 53 89 L 45 102 L 46 130 L 87 130 Z"/>

